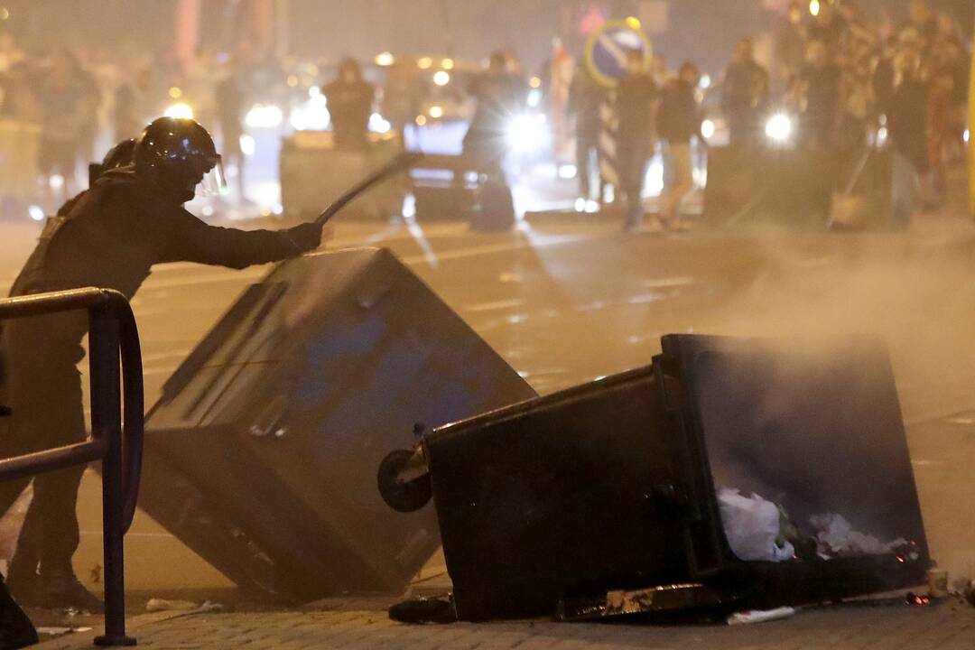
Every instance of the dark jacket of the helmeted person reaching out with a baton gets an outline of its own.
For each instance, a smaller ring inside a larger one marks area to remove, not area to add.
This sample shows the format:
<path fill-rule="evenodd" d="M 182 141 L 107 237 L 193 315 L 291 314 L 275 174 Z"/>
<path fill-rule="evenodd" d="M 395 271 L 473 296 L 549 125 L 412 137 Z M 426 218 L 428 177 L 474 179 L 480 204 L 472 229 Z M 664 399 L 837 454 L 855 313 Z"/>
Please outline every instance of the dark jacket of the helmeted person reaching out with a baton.
<path fill-rule="evenodd" d="M 11 295 L 102 287 L 132 298 L 153 264 L 186 261 L 242 269 L 315 249 L 320 232 L 314 224 L 281 231 L 211 226 L 165 201 L 131 168 L 116 170 L 105 173 L 49 222 Z M 15 327 L 11 322 L 7 333 L 23 335 L 8 344 L 52 345 L 80 360 L 85 320 L 51 318 L 66 328 Z"/>

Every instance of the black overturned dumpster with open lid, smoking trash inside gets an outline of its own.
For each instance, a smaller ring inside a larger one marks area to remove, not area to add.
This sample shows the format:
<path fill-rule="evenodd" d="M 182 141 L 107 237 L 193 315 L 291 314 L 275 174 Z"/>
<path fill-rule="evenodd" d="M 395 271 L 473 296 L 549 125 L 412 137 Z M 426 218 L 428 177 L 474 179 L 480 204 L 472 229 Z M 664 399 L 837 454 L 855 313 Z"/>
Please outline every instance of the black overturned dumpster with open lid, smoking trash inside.
<path fill-rule="evenodd" d="M 920 584 L 929 565 L 872 337 L 666 336 L 649 367 L 390 459 L 386 494 L 432 491 L 464 620 L 830 601 Z"/>

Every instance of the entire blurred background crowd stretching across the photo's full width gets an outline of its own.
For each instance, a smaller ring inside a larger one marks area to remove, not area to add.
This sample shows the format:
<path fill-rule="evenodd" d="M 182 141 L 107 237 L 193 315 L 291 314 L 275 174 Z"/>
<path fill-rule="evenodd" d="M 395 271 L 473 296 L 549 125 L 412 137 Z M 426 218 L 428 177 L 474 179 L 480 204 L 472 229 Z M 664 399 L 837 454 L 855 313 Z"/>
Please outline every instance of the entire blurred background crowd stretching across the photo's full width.
<path fill-rule="evenodd" d="M 855 0 L 821 0 L 816 7 L 812 15 L 807 3 L 794 3 L 770 51 L 762 50 L 761 42 L 742 39 L 726 69 L 715 75 L 706 92 L 720 97 L 729 145 L 763 145 L 768 118 L 777 112 L 795 119 L 796 146 L 836 154 L 839 161 L 855 160 L 864 149 L 889 139 L 900 167 L 921 179 L 919 203 L 937 207 L 947 166 L 963 156 L 970 54 L 960 26 L 949 14 L 932 12 L 925 0 L 912 0 L 909 18 L 901 23 L 869 15 Z M 615 91 L 619 178 L 614 184 L 631 207 L 629 227 L 637 227 L 646 164 L 659 143 L 666 183 L 661 219 L 650 225 L 680 227 L 680 206 L 693 188 L 693 143 L 707 140 L 700 134 L 705 117 L 701 74 L 692 61 L 671 70 L 660 53 L 649 61 L 632 54 L 630 77 Z M 98 147 L 105 149 L 133 137 L 181 97 L 192 97 L 196 117 L 215 127 L 230 171 L 242 176 L 241 113 L 248 88 L 255 83 L 280 86 L 289 78 L 281 61 L 261 58 L 245 48 L 233 56 L 200 52 L 187 62 L 126 45 L 76 45 L 28 54 L 10 33 L 0 33 L 0 117 L 39 125 L 34 152 L 38 176 L 57 179 L 38 188 L 49 204 L 57 205 L 83 185 L 85 164 L 96 157 L 97 138 Z M 512 71 L 517 67 L 513 60 L 499 53 L 483 78 L 465 89 L 479 106 L 465 148 L 479 155 L 486 153 L 485 143 L 501 141 L 493 136 L 504 131 L 501 114 L 516 112 L 511 106 L 524 103 L 526 78 Z M 388 96 L 381 108 L 396 113 L 387 116 L 394 128 L 412 124 L 421 101 L 412 86 L 409 93 L 397 92 L 397 79 L 415 76 L 398 76 L 401 67 L 398 60 L 389 68 L 388 88 L 382 89 L 366 81 L 354 60 L 338 66 L 335 81 L 322 88 L 336 139 L 346 144 L 362 140 L 384 90 Z M 498 72 L 502 70 L 504 74 Z M 541 75 L 543 92 L 550 86 L 547 73 L 544 69 Z M 515 77 L 518 84 L 511 82 Z M 583 200 L 592 199 L 593 174 L 588 171 L 598 155 L 604 130 L 601 107 L 610 93 L 587 66 L 576 66 L 567 109 L 574 117 Z M 394 110 L 397 96 L 409 97 L 400 102 L 403 110 Z M 558 116 L 553 124 L 561 124 Z M 236 181 L 235 187 L 243 187 L 242 177 Z"/>

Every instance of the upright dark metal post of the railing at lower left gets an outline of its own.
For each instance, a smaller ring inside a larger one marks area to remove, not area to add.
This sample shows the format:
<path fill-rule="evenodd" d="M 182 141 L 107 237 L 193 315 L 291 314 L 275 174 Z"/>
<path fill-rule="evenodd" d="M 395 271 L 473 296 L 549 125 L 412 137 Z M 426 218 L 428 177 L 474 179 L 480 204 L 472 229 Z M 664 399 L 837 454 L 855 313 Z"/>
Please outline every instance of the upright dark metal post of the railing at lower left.
<path fill-rule="evenodd" d="M 107 307 L 91 311 L 92 435 L 103 437 L 101 516 L 104 527 L 105 633 L 96 645 L 131 646 L 125 631 L 125 552 L 122 484 L 122 391 L 119 375 L 119 324 Z"/>

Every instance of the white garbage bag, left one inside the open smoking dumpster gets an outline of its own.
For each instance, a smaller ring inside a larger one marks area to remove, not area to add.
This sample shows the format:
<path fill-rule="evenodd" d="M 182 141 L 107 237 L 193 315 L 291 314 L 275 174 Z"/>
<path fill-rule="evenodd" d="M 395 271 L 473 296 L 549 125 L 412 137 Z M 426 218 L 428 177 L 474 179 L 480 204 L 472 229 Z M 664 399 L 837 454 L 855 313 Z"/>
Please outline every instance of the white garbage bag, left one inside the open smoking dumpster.
<path fill-rule="evenodd" d="M 778 506 L 758 494 L 742 496 L 739 490 L 718 491 L 724 536 L 731 551 L 744 560 L 782 562 L 793 559 L 796 549 L 789 542 L 776 542 L 780 535 Z"/>

